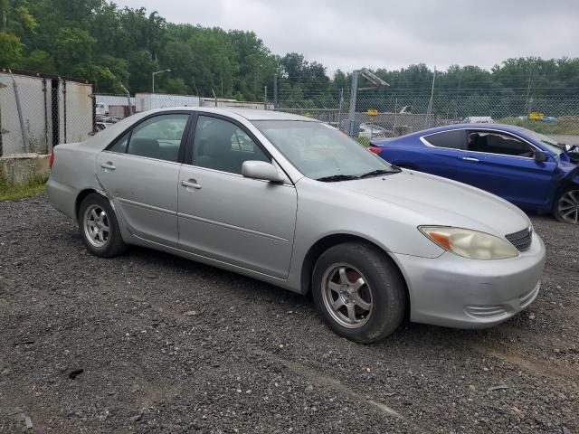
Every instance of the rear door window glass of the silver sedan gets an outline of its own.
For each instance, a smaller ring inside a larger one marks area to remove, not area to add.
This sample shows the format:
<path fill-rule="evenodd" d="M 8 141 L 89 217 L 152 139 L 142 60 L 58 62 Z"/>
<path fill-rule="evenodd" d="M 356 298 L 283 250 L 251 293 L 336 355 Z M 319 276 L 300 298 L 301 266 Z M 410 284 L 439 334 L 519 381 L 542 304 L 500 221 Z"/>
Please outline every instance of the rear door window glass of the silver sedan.
<path fill-rule="evenodd" d="M 189 115 L 158 115 L 138 124 L 109 148 L 111 152 L 176 162 Z"/>

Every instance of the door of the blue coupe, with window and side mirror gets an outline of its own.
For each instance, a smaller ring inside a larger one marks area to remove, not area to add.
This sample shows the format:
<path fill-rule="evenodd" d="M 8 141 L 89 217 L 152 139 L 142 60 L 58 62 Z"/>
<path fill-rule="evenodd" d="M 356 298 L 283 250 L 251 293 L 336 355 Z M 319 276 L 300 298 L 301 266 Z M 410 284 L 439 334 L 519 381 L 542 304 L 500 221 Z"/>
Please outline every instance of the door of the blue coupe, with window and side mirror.
<path fill-rule="evenodd" d="M 536 147 L 520 137 L 487 129 L 468 130 L 459 180 L 523 207 L 548 198 L 556 162 L 535 161 Z"/>

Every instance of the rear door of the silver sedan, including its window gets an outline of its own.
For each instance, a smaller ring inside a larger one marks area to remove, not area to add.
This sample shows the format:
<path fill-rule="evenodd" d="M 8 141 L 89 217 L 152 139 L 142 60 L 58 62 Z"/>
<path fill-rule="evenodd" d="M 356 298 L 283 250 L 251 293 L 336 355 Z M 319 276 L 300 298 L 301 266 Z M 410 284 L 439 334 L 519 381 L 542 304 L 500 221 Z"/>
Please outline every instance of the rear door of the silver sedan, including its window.
<path fill-rule="evenodd" d="M 128 230 L 172 247 L 178 240 L 177 184 L 188 121 L 186 112 L 146 118 L 102 151 L 96 162 L 100 184 Z"/>

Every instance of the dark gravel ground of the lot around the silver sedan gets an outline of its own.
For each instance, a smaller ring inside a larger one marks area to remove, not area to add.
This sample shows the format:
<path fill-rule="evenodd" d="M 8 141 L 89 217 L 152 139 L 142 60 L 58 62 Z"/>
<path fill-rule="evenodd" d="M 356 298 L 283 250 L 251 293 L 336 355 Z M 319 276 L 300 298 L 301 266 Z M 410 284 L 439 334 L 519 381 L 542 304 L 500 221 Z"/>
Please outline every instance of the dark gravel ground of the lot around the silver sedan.
<path fill-rule="evenodd" d="M 152 250 L 95 258 L 44 197 L 0 203 L 0 432 L 579 432 L 579 230 L 533 222 L 530 310 L 359 345 L 308 297 Z"/>

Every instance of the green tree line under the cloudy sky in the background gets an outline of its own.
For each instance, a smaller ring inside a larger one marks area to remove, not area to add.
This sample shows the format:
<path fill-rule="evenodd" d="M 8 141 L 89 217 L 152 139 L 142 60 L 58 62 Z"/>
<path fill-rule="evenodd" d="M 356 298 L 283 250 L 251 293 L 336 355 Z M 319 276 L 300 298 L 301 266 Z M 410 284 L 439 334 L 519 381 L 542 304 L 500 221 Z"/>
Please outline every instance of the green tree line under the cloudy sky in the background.
<path fill-rule="evenodd" d="M 272 53 L 253 32 L 172 24 L 157 12 L 105 0 L 0 0 L 0 66 L 92 80 L 100 93 L 157 92 L 262 100 L 277 76 L 280 98 L 320 104 L 348 90 L 351 75 L 330 77 L 298 52 Z M 430 93 L 424 64 L 378 69 L 391 95 Z M 577 95 L 579 59 L 508 59 L 490 71 L 453 65 L 437 71 L 441 95 Z M 374 91 L 371 93 L 376 93 Z"/>

